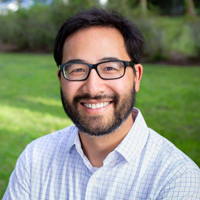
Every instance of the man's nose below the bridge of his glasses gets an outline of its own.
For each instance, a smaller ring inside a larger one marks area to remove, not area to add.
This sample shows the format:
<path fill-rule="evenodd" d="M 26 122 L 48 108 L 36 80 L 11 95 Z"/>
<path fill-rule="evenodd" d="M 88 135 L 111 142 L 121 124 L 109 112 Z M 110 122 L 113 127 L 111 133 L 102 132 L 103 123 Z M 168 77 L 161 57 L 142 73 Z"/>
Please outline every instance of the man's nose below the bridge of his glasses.
<path fill-rule="evenodd" d="M 105 80 L 101 79 L 95 69 L 92 69 L 89 77 L 84 81 L 82 92 L 96 96 L 106 90 Z"/>

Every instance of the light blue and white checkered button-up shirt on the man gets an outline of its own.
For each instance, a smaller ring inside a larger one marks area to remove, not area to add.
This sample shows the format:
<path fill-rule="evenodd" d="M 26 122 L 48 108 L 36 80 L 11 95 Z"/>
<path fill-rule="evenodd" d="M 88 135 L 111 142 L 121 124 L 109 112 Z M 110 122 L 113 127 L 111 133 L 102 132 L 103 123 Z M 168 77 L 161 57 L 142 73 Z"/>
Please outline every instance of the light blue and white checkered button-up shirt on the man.
<path fill-rule="evenodd" d="M 200 199 L 200 170 L 138 113 L 128 135 L 94 168 L 76 126 L 30 143 L 3 200 Z"/>

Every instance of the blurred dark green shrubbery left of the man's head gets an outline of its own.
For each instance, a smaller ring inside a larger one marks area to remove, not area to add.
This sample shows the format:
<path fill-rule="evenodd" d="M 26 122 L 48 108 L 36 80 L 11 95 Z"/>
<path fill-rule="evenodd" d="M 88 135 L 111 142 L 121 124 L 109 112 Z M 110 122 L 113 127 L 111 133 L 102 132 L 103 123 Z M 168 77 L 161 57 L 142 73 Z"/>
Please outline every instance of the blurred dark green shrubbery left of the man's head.
<path fill-rule="evenodd" d="M 22 50 L 52 51 L 61 24 L 71 15 L 88 9 L 90 1 L 55 1 L 51 6 L 35 5 L 29 10 L 0 16 L 0 43 L 11 44 Z M 98 5 L 97 5 L 98 6 Z"/>

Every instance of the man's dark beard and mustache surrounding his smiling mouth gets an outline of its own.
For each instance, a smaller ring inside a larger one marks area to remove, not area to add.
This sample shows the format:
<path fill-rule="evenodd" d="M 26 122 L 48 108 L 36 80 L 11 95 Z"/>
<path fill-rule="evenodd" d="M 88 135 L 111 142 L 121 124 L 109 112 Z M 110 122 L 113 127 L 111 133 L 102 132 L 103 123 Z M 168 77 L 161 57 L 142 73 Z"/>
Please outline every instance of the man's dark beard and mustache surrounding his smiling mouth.
<path fill-rule="evenodd" d="M 91 96 L 89 94 L 77 95 L 73 102 L 69 102 L 67 95 L 60 90 L 63 108 L 69 118 L 78 127 L 79 131 L 90 136 L 104 136 L 113 133 L 131 114 L 135 105 L 135 85 L 131 90 L 124 94 L 120 100 L 117 94 Z M 78 110 L 78 103 L 81 100 L 106 100 L 112 99 L 114 113 L 101 116 L 84 116 Z"/>

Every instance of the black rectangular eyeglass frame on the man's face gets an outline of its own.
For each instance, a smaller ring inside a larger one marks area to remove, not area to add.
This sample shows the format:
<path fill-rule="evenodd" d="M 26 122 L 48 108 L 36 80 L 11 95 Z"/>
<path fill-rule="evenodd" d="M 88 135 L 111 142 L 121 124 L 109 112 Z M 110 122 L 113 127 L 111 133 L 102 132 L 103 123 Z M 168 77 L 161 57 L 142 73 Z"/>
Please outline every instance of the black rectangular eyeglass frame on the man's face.
<path fill-rule="evenodd" d="M 124 65 L 124 73 L 123 73 L 123 75 L 120 76 L 120 77 L 117 77 L 117 78 L 103 78 L 103 77 L 101 77 L 101 75 L 99 74 L 99 71 L 98 71 L 97 67 L 98 67 L 98 65 L 100 65 L 100 64 L 108 63 L 108 62 L 122 62 L 123 65 Z M 87 75 L 84 79 L 80 79 L 80 80 L 71 80 L 71 79 L 68 79 L 68 78 L 65 76 L 65 73 L 64 73 L 64 67 L 65 67 L 66 65 L 68 65 L 68 64 L 70 64 L 70 65 L 71 65 L 71 64 L 84 64 L 84 65 L 87 65 L 87 66 L 89 67 L 88 75 Z M 108 60 L 108 61 L 103 61 L 103 62 L 99 62 L 99 63 L 96 63 L 96 64 L 88 64 L 88 63 L 84 63 L 84 62 L 67 62 L 67 63 L 60 64 L 58 67 L 59 67 L 59 71 L 62 71 L 63 77 L 64 77 L 66 80 L 68 80 L 68 81 L 85 81 L 85 80 L 87 80 L 87 78 L 89 77 L 90 72 L 91 72 L 92 69 L 95 69 L 96 72 L 97 72 L 97 74 L 98 74 L 98 76 L 99 76 L 101 79 L 103 79 L 103 80 L 115 80 L 115 79 L 120 79 L 120 78 L 122 78 L 122 77 L 125 75 L 125 73 L 126 73 L 126 68 L 127 68 L 127 67 L 132 67 L 134 73 L 136 73 L 136 69 L 135 69 L 135 67 L 134 67 L 134 64 L 135 64 L 135 63 L 132 62 L 132 61 Z"/>

